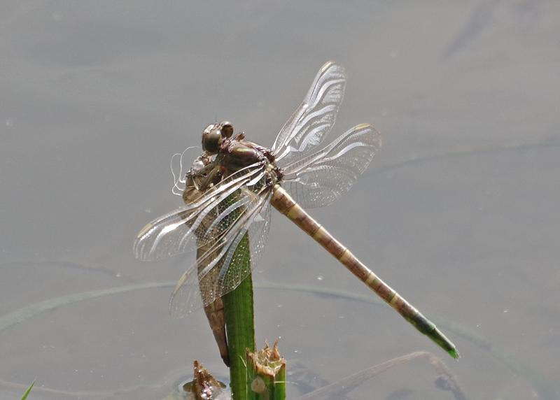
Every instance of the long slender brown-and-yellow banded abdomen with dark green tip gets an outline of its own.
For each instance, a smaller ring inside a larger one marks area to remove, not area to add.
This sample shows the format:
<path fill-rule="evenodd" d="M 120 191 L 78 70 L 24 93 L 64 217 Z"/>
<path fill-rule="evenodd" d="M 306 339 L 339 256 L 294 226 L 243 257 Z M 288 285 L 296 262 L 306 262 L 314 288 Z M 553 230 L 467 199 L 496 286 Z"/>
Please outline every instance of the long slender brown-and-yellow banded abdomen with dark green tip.
<path fill-rule="evenodd" d="M 455 345 L 435 327 L 433 322 L 424 317 L 419 310 L 416 310 L 416 308 L 410 305 L 400 294 L 395 292 L 395 290 L 384 283 L 383 280 L 360 262 L 350 250 L 342 245 L 342 243 L 332 237 L 332 235 L 307 214 L 280 185 L 274 186 L 271 203 L 276 210 L 286 215 L 286 217 L 290 218 L 298 227 L 314 238 L 317 243 L 322 245 L 323 248 L 346 266 L 351 273 L 377 293 L 381 299 L 384 299 L 384 301 L 402 315 L 405 320 L 421 331 L 422 334 L 425 334 L 437 343 L 437 345 L 440 345 L 451 357 L 459 357 Z"/>

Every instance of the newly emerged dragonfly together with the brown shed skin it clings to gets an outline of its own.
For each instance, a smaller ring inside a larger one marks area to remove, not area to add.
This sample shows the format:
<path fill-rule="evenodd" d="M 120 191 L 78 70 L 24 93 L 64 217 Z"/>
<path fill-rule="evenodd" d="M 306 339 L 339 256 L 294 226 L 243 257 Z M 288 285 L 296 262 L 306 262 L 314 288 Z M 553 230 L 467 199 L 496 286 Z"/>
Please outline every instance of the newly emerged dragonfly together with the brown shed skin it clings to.
<path fill-rule="evenodd" d="M 234 134 L 230 122 L 210 124 L 202 132 L 202 153 L 184 178 L 175 180 L 174 193 L 181 194 L 185 204 L 149 222 L 137 235 L 134 255 L 141 260 L 196 249 L 194 265 L 172 293 L 169 312 L 182 317 L 204 307 L 225 364 L 229 360 L 221 298 L 258 264 L 272 207 L 422 334 L 458 358 L 456 346 L 433 322 L 304 210 L 328 206 L 348 192 L 381 147 L 381 135 L 371 124 L 358 124 L 325 144 L 345 87 L 344 67 L 324 64 L 271 148 L 246 141 L 243 132 Z M 239 250 L 250 255 L 249 266 L 239 262 L 244 253 Z"/>

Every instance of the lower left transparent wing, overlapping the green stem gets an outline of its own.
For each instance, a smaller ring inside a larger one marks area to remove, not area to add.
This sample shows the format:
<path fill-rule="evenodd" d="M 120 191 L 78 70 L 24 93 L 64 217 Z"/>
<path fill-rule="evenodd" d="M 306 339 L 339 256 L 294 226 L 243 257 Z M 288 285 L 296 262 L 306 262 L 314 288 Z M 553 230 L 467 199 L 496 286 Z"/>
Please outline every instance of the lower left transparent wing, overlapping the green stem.
<path fill-rule="evenodd" d="M 251 273 L 268 238 L 271 194 L 270 187 L 248 194 L 253 201 L 228 221 L 229 229 L 221 240 L 199 246 L 195 265 L 181 276 L 169 300 L 172 316 L 183 317 L 208 306 Z"/>

